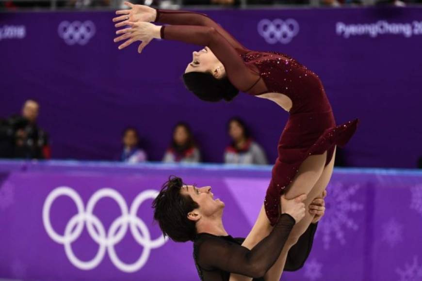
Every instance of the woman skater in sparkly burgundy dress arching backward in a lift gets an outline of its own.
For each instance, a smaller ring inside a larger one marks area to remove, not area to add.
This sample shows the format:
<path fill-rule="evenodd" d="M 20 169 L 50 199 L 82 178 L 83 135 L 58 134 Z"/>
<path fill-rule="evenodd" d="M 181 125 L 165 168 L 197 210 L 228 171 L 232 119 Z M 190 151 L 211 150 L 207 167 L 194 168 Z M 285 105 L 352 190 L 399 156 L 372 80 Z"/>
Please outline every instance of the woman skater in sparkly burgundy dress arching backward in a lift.
<path fill-rule="evenodd" d="M 272 230 L 280 214 L 280 195 L 292 199 L 307 194 L 306 208 L 321 196 L 334 166 L 336 145 L 343 146 L 354 134 L 358 120 L 336 125 L 330 103 L 318 76 L 293 58 L 276 52 L 258 52 L 243 47 L 211 18 L 193 12 L 156 10 L 133 5 L 117 11 L 114 42 L 126 40 L 122 49 L 142 41 L 140 53 L 154 38 L 205 46 L 193 53 L 183 76 L 186 87 L 206 101 L 233 99 L 238 91 L 276 102 L 289 112 L 278 143 L 263 206 L 254 227 L 243 242 L 251 249 Z M 157 26 L 150 22 L 169 25 Z M 265 280 L 279 280 L 289 249 L 308 229 L 313 215 L 294 225 L 287 242 Z M 269 251 L 271 249 L 268 249 Z M 250 280 L 231 274 L 230 280 Z"/>

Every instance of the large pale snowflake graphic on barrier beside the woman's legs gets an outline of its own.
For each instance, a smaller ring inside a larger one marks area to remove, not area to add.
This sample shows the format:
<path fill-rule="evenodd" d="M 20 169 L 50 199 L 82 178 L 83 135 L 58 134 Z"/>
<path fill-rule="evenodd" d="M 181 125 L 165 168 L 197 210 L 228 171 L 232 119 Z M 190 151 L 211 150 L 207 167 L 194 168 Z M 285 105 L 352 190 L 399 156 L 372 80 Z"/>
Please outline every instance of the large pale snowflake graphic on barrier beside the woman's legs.
<path fill-rule="evenodd" d="M 357 223 L 350 218 L 349 213 L 363 209 L 363 204 L 350 199 L 359 189 L 360 186 L 358 184 L 344 187 L 342 183 L 337 182 L 330 186 L 328 188 L 328 195 L 325 197 L 325 215 L 319 223 L 320 231 L 317 231 L 315 235 L 323 235 L 325 250 L 330 248 L 332 234 L 335 235 L 335 238 L 339 240 L 341 245 L 346 243 L 344 229 L 349 228 L 356 231 L 359 228 Z"/>

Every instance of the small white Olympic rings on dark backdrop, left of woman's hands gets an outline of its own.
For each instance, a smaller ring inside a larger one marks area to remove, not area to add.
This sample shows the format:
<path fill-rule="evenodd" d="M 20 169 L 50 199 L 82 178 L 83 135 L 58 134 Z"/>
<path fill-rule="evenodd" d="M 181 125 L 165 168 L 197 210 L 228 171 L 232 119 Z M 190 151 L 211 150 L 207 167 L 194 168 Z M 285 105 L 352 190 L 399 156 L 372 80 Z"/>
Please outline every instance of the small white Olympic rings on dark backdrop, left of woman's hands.
<path fill-rule="evenodd" d="M 67 45 L 85 45 L 95 34 L 95 25 L 92 21 L 80 22 L 62 21 L 57 29 L 59 36 L 63 38 Z"/>

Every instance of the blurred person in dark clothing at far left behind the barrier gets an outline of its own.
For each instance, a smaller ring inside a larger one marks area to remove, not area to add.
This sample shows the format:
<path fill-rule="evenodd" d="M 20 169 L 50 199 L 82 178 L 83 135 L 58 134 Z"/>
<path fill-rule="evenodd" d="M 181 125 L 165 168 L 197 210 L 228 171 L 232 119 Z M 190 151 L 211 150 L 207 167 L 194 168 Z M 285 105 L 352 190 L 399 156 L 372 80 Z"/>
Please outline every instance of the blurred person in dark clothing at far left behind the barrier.
<path fill-rule="evenodd" d="M 0 124 L 0 157 L 49 159 L 48 135 L 36 124 L 39 104 L 29 99 L 21 116 L 12 116 Z"/>

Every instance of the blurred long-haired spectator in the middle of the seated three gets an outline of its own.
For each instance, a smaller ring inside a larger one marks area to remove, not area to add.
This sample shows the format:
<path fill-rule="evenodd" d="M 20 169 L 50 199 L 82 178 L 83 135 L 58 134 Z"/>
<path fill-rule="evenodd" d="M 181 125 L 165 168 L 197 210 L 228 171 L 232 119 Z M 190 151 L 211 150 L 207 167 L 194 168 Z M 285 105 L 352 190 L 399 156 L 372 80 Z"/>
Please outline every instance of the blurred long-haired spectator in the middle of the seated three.
<path fill-rule="evenodd" d="M 198 163 L 200 159 L 201 155 L 189 125 L 184 122 L 178 123 L 173 129 L 173 139 L 162 161 Z"/>

